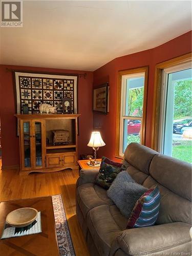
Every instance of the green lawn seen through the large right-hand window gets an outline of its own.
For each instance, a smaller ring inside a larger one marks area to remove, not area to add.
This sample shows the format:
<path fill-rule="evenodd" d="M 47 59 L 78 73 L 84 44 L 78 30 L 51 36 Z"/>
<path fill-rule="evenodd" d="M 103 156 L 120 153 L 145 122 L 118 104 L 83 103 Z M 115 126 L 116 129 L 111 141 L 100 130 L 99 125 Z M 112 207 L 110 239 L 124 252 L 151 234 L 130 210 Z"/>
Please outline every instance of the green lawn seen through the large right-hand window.
<path fill-rule="evenodd" d="M 176 141 L 174 141 L 176 142 Z M 178 142 L 178 141 L 177 141 Z M 172 156 L 186 161 L 188 163 L 192 163 L 192 142 L 191 140 L 183 140 L 181 145 L 173 146 Z"/>

